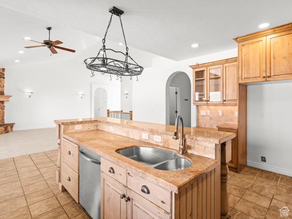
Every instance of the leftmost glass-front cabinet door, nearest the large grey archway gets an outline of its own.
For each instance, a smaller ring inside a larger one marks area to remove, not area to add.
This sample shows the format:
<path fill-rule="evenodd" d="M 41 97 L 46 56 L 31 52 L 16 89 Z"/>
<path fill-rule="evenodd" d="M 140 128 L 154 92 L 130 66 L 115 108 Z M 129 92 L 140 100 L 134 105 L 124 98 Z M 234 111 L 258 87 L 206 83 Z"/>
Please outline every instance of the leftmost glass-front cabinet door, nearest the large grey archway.
<path fill-rule="evenodd" d="M 193 104 L 207 103 L 207 68 L 193 71 Z"/>

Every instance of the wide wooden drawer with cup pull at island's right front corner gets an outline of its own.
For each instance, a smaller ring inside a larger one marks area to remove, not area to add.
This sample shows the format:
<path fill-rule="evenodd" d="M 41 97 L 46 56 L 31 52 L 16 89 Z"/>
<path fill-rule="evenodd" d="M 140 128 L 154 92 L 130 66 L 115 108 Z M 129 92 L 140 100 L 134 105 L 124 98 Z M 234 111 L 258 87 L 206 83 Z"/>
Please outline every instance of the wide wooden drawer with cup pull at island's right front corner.
<path fill-rule="evenodd" d="M 145 199 L 151 201 L 153 204 L 156 204 L 158 207 L 163 210 L 171 213 L 171 191 L 168 191 L 159 185 L 156 185 L 144 178 L 136 175 L 135 173 L 131 173 L 128 171 L 127 176 L 128 188 L 144 197 Z M 145 194 L 141 191 L 145 186 L 149 190 L 149 194 Z"/>

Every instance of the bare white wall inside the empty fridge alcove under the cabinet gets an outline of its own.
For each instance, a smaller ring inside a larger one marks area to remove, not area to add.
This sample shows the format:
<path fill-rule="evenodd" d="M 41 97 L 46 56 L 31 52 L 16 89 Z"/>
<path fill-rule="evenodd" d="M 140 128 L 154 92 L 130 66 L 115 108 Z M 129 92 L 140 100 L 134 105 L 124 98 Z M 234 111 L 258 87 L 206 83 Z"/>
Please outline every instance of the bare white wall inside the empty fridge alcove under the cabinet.
<path fill-rule="evenodd" d="M 247 86 L 248 165 L 292 176 L 291 93 L 291 80 Z"/>

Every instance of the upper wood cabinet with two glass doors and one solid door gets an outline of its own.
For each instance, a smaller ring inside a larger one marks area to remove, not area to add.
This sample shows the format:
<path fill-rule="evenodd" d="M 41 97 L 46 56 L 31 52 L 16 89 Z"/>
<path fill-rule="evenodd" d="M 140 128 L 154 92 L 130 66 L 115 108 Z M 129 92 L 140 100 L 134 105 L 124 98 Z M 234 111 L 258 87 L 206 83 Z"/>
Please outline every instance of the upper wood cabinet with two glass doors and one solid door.
<path fill-rule="evenodd" d="M 190 66 L 193 104 L 237 104 L 237 57 Z"/>

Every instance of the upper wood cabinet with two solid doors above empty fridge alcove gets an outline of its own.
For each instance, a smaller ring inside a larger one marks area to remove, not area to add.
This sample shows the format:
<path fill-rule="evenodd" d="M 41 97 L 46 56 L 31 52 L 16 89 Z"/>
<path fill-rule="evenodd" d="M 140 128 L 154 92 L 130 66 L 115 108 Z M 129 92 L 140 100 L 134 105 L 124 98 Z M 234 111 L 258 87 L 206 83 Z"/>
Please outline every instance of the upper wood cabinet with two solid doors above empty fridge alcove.
<path fill-rule="evenodd" d="M 292 23 L 234 38 L 239 83 L 292 79 Z"/>

